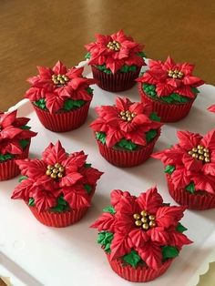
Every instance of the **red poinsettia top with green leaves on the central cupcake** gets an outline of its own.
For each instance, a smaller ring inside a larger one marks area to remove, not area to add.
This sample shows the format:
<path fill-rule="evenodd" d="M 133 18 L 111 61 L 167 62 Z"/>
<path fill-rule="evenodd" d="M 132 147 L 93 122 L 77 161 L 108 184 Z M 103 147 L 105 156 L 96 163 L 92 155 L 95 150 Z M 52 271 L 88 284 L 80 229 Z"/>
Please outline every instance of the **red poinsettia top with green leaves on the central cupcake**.
<path fill-rule="evenodd" d="M 98 118 L 90 127 L 109 148 L 135 150 L 159 135 L 159 117 L 147 104 L 117 97 L 116 105 L 96 107 L 96 111 Z"/>

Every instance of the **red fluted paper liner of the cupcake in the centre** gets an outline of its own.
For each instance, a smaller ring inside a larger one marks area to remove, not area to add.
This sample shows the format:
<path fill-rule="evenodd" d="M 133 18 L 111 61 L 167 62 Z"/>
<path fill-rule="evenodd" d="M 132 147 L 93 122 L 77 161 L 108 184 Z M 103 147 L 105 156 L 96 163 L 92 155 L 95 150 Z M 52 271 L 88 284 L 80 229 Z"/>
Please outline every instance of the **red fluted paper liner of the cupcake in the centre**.
<path fill-rule="evenodd" d="M 102 144 L 97 140 L 97 146 L 102 157 L 106 158 L 109 163 L 118 167 L 134 167 L 146 161 L 155 146 L 160 135 L 160 130 L 156 138 L 148 143 L 146 147 L 140 147 L 137 150 L 121 150 L 116 148 L 108 148 L 106 144 Z"/>

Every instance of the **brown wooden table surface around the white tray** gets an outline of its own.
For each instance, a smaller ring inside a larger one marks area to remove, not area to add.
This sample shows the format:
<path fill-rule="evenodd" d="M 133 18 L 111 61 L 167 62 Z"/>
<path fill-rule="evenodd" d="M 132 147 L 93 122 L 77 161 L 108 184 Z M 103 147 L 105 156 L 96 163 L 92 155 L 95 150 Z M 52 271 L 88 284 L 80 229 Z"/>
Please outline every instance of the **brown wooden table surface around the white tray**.
<path fill-rule="evenodd" d="M 96 33 L 120 28 L 148 57 L 193 63 L 196 76 L 215 84 L 214 19 L 214 0 L 0 0 L 0 110 L 23 98 L 36 66 L 77 65 Z"/>

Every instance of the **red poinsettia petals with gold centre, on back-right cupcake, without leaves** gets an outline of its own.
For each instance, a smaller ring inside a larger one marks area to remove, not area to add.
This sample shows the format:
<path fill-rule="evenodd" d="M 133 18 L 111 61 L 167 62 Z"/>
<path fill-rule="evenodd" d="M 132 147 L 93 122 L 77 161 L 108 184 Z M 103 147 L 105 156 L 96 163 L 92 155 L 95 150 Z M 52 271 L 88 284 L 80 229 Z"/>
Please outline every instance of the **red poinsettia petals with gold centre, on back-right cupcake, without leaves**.
<path fill-rule="evenodd" d="M 149 60 L 148 66 L 149 69 L 137 81 L 155 85 L 158 97 L 168 97 L 176 93 L 183 97 L 194 98 L 196 93 L 192 87 L 204 84 L 203 80 L 192 75 L 193 65 L 176 64 L 170 56 L 166 62 Z"/>

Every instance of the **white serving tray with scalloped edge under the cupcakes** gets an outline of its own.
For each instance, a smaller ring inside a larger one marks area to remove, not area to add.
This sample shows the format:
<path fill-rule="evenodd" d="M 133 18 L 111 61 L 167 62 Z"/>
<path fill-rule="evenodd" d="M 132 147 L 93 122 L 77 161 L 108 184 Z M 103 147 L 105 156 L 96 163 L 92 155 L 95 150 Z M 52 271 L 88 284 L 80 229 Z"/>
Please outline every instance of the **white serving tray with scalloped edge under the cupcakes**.
<path fill-rule="evenodd" d="M 85 74 L 92 77 L 85 62 Z M 81 128 L 67 133 L 54 133 L 46 130 L 36 117 L 30 103 L 24 99 L 15 107 L 19 116 L 30 117 L 29 125 L 38 135 L 32 139 L 30 157 L 36 158 L 49 142 L 60 139 L 68 152 L 84 150 L 88 162 L 105 174 L 97 184 L 92 207 L 87 215 L 65 229 L 49 228 L 39 223 L 21 200 L 10 199 L 13 189 L 18 184 L 17 178 L 0 182 L 0 276 L 10 277 L 14 286 L 128 286 L 131 282 L 121 279 L 113 272 L 106 255 L 97 244 L 97 230 L 89 225 L 109 205 L 109 192 L 112 189 L 129 190 L 138 195 L 151 186 L 157 185 L 165 202 L 176 204 L 171 199 L 163 165 L 159 160 L 149 158 L 143 165 L 132 169 L 119 169 L 110 165 L 100 156 L 93 133 L 88 125 L 97 116 L 94 107 L 112 105 L 116 94 L 94 87 L 87 122 Z M 200 87 L 200 95 L 195 101 L 189 116 L 178 123 L 167 124 L 156 144 L 155 150 L 168 148 L 176 142 L 177 129 L 208 132 L 215 128 L 215 117 L 207 107 L 214 103 L 215 87 Z M 138 87 L 127 92 L 131 100 L 138 101 Z M 189 230 L 186 234 L 194 243 L 185 246 L 179 257 L 172 263 L 169 271 L 150 286 L 195 286 L 200 274 L 209 268 L 209 262 L 215 260 L 215 210 L 185 212 L 182 220 Z"/>

